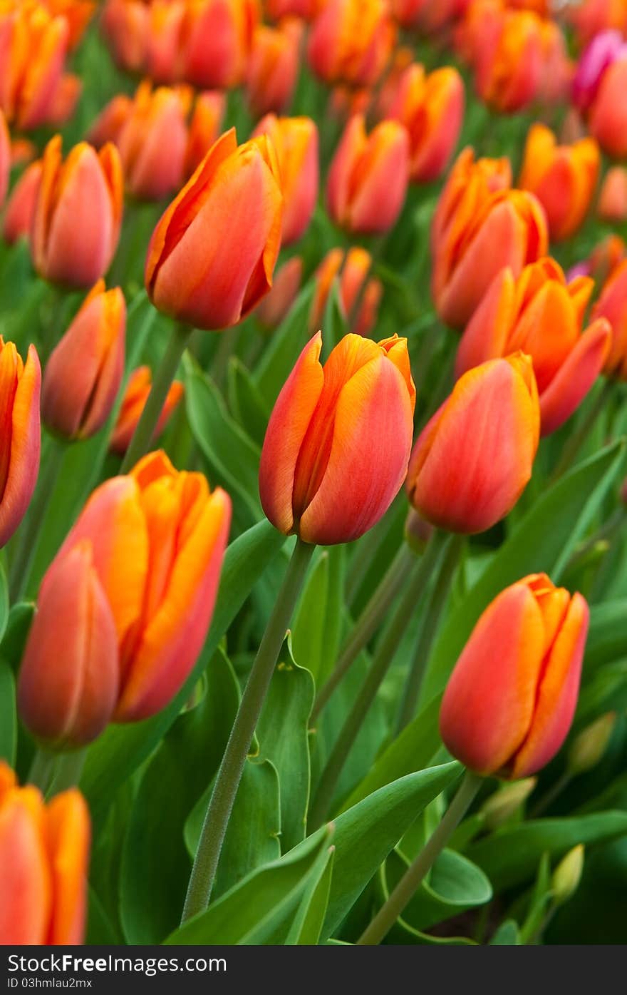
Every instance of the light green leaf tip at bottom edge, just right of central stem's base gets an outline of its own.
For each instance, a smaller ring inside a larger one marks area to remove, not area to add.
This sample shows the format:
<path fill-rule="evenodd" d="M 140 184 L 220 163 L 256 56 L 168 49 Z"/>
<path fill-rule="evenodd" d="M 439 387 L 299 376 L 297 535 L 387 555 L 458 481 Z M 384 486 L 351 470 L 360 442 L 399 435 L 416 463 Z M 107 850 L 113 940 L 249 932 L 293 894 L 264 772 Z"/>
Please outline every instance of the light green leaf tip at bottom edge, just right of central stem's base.
<path fill-rule="evenodd" d="M 257 868 L 165 940 L 167 944 L 283 943 L 312 880 L 327 862 L 332 834 L 323 827 L 284 857 Z"/>

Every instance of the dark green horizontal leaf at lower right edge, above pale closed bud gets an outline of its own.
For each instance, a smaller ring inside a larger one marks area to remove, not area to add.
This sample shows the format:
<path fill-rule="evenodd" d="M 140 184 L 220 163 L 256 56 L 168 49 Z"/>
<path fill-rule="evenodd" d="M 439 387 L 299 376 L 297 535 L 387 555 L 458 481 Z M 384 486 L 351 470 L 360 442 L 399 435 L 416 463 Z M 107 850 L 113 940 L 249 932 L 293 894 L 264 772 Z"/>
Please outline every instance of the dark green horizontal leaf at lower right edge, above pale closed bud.
<path fill-rule="evenodd" d="M 596 812 L 563 819 L 538 819 L 504 826 L 466 850 L 469 860 L 489 877 L 500 892 L 529 881 L 536 874 L 543 854 L 562 857 L 583 843 L 601 843 L 627 833 L 627 812 Z"/>

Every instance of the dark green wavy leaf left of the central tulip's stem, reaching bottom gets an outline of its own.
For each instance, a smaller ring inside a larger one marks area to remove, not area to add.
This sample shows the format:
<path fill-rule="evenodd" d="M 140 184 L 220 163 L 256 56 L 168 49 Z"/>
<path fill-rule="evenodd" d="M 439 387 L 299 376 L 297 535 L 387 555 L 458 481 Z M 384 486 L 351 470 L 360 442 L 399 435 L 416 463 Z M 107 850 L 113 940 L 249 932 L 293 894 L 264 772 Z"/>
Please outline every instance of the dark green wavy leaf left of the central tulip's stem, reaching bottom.
<path fill-rule="evenodd" d="M 202 701 L 184 711 L 144 770 L 124 842 L 121 920 L 129 943 L 158 943 L 177 924 L 191 861 L 183 826 L 214 778 L 235 718 L 239 689 L 218 650 Z M 164 804 L 155 807 L 155 799 Z"/>

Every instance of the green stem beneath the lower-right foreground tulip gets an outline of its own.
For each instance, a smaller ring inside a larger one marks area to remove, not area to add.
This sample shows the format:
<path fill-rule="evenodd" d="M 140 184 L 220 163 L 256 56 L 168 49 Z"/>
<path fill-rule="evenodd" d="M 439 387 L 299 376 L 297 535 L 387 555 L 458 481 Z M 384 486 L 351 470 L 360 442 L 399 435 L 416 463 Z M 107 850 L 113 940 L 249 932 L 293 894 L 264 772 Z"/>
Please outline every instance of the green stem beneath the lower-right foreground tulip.
<path fill-rule="evenodd" d="M 390 932 L 392 925 L 402 912 L 409 899 L 415 895 L 425 875 L 450 840 L 453 831 L 459 825 L 470 808 L 472 801 L 481 787 L 483 778 L 467 770 L 459 789 L 448 806 L 442 821 L 429 837 L 424 847 L 402 876 L 392 895 L 379 909 L 377 915 L 364 930 L 357 943 L 359 946 L 373 946 L 381 943 Z"/>

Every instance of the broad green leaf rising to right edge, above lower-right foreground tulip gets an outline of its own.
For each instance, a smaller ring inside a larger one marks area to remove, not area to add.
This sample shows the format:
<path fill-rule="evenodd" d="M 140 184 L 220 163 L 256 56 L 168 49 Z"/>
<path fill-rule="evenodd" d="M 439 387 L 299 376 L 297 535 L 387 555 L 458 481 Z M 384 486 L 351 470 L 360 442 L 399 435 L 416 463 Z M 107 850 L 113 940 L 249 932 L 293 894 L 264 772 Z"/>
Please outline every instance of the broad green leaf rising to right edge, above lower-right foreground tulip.
<path fill-rule="evenodd" d="M 529 573 L 559 571 L 623 466 L 624 443 L 616 442 L 574 467 L 543 495 L 500 547 L 474 587 L 452 611 L 429 657 L 422 700 L 442 692 L 472 629 L 504 587 Z"/>

